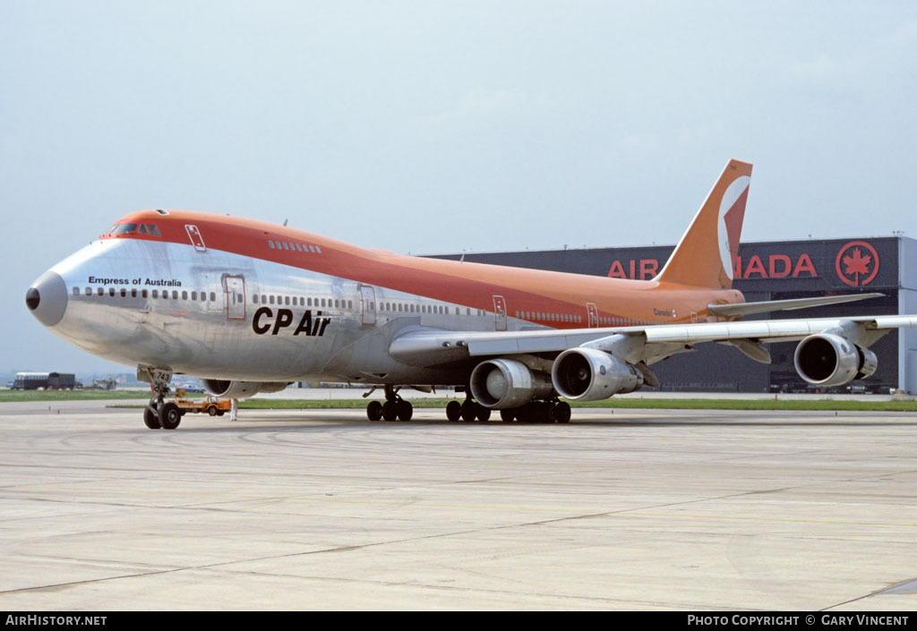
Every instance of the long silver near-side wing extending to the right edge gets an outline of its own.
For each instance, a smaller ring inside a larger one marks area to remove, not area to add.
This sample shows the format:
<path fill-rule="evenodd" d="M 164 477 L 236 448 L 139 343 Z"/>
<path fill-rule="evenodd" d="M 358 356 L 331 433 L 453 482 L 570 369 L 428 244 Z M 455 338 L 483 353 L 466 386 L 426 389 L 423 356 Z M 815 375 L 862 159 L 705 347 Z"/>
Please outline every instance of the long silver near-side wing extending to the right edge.
<path fill-rule="evenodd" d="M 415 365 L 432 365 L 473 357 L 560 353 L 577 347 L 612 352 L 625 340 L 627 359 L 653 361 L 701 342 L 732 344 L 752 359 L 769 361 L 762 343 L 794 341 L 829 329 L 845 328 L 860 346 L 868 347 L 893 328 L 917 327 L 917 315 L 752 320 L 646 327 L 541 329 L 530 331 L 447 331 L 414 329 L 394 338 L 393 358 Z M 635 357 L 634 347 L 639 347 Z M 616 354 L 616 353 L 615 353 Z"/>

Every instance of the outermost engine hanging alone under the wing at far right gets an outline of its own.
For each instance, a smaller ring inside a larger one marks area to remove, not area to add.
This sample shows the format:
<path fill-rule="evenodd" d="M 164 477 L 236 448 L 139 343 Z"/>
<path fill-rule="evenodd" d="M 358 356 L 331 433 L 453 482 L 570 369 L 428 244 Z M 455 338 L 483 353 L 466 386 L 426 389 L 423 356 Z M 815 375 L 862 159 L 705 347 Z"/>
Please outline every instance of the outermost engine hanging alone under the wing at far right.
<path fill-rule="evenodd" d="M 869 349 L 847 338 L 819 333 L 803 339 L 796 347 L 793 363 L 800 377 L 812 385 L 844 385 L 865 379 L 876 371 L 878 360 Z"/>

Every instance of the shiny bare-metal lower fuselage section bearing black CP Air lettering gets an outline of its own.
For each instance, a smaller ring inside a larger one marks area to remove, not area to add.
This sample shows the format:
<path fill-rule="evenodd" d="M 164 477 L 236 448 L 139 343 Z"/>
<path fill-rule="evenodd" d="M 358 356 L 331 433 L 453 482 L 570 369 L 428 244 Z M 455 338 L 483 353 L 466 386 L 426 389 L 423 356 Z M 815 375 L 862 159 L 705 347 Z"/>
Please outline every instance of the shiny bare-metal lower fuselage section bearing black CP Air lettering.
<path fill-rule="evenodd" d="M 411 327 L 544 328 L 216 249 L 94 241 L 51 268 L 68 291 L 52 330 L 88 352 L 213 379 L 464 383 L 470 368 L 393 360 Z"/>

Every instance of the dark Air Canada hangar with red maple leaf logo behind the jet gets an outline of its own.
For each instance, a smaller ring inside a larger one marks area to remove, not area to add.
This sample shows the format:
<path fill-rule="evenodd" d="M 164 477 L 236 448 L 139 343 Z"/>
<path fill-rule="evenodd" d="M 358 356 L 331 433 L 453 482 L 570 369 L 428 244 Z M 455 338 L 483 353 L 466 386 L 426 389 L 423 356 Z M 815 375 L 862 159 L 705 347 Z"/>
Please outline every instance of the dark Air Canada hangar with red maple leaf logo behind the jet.
<path fill-rule="evenodd" d="M 436 258 L 650 279 L 675 246 L 559 249 L 451 254 Z M 904 237 L 744 243 L 734 265 L 735 289 L 747 302 L 834 293 L 884 293 L 851 304 L 749 316 L 768 318 L 917 313 L 917 241 Z M 841 391 L 917 394 L 917 330 L 891 331 L 872 347 L 878 370 Z M 701 344 L 653 364 L 661 390 L 681 392 L 812 392 L 793 367 L 795 342 L 770 344 L 773 363 L 761 364 L 727 346 Z"/>

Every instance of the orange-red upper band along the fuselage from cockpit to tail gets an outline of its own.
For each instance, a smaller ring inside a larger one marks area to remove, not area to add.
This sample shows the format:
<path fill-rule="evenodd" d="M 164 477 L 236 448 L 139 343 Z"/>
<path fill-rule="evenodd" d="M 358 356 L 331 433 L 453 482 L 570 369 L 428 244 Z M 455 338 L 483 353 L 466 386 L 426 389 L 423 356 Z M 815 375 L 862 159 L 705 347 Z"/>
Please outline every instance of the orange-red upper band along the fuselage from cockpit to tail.
<path fill-rule="evenodd" d="M 673 282 L 632 281 L 559 271 L 530 270 L 456 260 L 404 256 L 379 249 L 360 248 L 344 241 L 293 227 L 254 219 L 171 210 L 138 211 L 118 224 L 155 224 L 160 236 L 107 234 L 103 239 L 138 238 L 193 245 L 186 226 L 197 227 L 206 249 L 218 249 L 294 268 L 390 288 L 476 309 L 494 310 L 494 296 L 503 298 L 506 314 L 578 315 L 564 322 L 527 317 L 556 328 L 589 326 L 587 304 L 596 305 L 608 324 L 689 322 L 705 319 L 710 303 L 743 302 L 735 290 L 692 287 Z M 271 248 L 269 241 L 317 246 L 321 253 Z M 693 315 L 692 315 L 693 314 Z"/>

